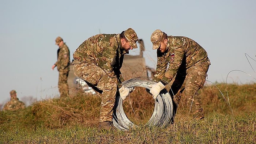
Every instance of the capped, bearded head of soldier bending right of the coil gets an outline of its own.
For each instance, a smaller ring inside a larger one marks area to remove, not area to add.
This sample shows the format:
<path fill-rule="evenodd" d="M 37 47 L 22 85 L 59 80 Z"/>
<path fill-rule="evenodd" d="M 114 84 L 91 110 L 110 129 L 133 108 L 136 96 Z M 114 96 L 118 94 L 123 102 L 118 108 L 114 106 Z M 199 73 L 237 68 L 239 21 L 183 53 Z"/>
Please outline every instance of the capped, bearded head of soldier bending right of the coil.
<path fill-rule="evenodd" d="M 157 49 L 162 53 L 167 50 L 167 34 L 161 30 L 155 30 L 151 34 L 150 41 L 153 43 L 153 49 Z"/>

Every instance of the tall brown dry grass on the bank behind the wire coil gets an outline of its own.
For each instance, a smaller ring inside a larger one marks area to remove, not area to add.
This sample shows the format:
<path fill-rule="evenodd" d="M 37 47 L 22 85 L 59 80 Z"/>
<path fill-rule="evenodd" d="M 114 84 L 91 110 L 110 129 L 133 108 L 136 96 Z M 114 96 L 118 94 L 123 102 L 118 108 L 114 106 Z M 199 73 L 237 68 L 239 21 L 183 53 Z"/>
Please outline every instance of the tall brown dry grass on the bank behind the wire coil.
<path fill-rule="evenodd" d="M 235 85 L 218 84 L 227 99 L 228 89 L 229 101 L 234 115 L 240 115 L 256 111 L 256 84 Z M 219 114 L 231 114 L 231 110 L 224 100 L 221 92 L 215 86 L 205 86 L 201 91 L 202 103 L 205 115 L 213 112 Z M 99 121 L 101 99 L 97 95 L 84 94 L 79 91 L 73 93 L 69 98 L 47 99 L 35 102 L 32 106 L 21 111 L 22 116 L 17 119 L 8 117 L 14 113 L 2 112 L 0 124 L 5 122 L 24 123 L 22 127 L 37 128 L 63 128 L 81 124 L 86 127 L 97 126 Z M 123 102 L 123 108 L 127 117 L 135 124 L 146 123 L 154 110 L 154 100 L 145 88 L 135 87 L 129 97 Z M 188 116 L 187 102 L 181 97 L 176 117 Z M 4 118 L 7 115 L 8 118 Z M 10 120 L 9 120 L 10 119 Z"/>

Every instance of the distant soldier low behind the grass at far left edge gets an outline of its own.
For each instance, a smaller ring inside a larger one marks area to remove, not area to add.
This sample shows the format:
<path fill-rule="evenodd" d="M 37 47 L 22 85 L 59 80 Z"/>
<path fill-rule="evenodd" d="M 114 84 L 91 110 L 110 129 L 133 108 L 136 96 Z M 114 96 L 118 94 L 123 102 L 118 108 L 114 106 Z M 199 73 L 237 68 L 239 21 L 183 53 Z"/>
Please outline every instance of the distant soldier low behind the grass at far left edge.
<path fill-rule="evenodd" d="M 25 109 L 25 104 L 22 101 L 19 101 L 17 98 L 17 94 L 15 90 L 10 91 L 11 101 L 7 102 L 4 105 L 3 111 L 6 110 L 19 110 L 19 109 Z"/>

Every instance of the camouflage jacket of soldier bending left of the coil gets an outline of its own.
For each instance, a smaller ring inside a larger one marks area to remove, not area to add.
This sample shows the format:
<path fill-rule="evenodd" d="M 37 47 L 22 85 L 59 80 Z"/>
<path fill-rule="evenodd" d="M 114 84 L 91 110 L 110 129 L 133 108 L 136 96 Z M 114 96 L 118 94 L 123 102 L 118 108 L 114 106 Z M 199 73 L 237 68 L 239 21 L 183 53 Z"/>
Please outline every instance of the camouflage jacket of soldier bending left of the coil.
<path fill-rule="evenodd" d="M 95 63 L 120 88 L 124 82 L 120 72 L 124 54 L 126 52 L 121 48 L 120 34 L 97 34 L 88 38 L 75 50 L 73 64 L 79 64 L 79 62 Z"/>

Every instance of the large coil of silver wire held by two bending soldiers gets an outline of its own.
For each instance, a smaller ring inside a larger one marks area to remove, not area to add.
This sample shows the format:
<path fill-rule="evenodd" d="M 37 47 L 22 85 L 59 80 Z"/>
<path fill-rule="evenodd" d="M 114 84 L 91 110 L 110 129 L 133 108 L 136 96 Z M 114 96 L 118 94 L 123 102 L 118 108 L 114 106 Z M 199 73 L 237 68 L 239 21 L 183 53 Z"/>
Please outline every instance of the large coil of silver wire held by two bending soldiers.
<path fill-rule="evenodd" d="M 123 82 L 124 87 L 144 87 L 151 90 L 150 84 L 156 84 L 156 82 L 146 77 L 135 77 L 133 79 Z M 139 95 L 138 95 L 139 96 Z M 152 97 L 153 98 L 153 97 Z M 153 114 L 146 123 L 146 125 L 153 125 L 159 127 L 165 127 L 171 121 L 173 117 L 173 103 L 169 92 L 163 89 L 155 99 L 155 107 Z M 123 99 L 117 95 L 116 102 L 113 111 L 113 125 L 119 130 L 129 130 L 136 126 L 131 122 L 123 110 Z"/>

